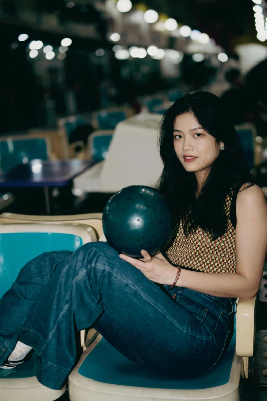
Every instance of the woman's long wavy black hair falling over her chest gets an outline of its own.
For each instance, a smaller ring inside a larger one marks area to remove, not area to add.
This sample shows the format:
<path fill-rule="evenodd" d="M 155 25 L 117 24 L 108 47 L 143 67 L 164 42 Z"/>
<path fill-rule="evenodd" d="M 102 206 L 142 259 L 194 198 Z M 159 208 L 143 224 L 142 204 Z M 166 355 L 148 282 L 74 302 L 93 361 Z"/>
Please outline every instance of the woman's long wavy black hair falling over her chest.
<path fill-rule="evenodd" d="M 193 172 L 187 172 L 174 151 L 173 126 L 176 116 L 193 113 L 202 128 L 212 135 L 216 143 L 224 143 L 211 166 L 209 174 L 195 196 L 197 180 Z M 159 191 L 169 201 L 176 225 L 183 216 L 186 235 L 201 227 L 213 240 L 223 235 L 227 228 L 225 197 L 241 183 L 254 178 L 244 156 L 242 145 L 233 123 L 228 118 L 221 100 L 209 92 L 196 91 L 186 94 L 165 112 L 160 126 L 160 156 L 163 172 L 158 182 Z"/>

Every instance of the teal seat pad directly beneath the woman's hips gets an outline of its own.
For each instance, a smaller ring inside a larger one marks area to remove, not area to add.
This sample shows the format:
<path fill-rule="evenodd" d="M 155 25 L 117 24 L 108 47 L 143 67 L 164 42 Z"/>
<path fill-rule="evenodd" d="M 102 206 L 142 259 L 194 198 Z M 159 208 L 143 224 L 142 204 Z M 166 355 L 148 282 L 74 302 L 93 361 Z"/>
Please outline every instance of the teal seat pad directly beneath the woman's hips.
<path fill-rule="evenodd" d="M 204 376 L 189 379 L 164 378 L 129 361 L 104 338 L 87 355 L 78 373 L 102 383 L 161 389 L 205 389 L 221 386 L 229 381 L 235 352 L 235 333 L 221 361 Z M 179 363 L 179 357 L 177 357 Z M 194 367 L 192 366 L 192 373 Z M 197 372 L 196 372 L 197 373 Z"/>

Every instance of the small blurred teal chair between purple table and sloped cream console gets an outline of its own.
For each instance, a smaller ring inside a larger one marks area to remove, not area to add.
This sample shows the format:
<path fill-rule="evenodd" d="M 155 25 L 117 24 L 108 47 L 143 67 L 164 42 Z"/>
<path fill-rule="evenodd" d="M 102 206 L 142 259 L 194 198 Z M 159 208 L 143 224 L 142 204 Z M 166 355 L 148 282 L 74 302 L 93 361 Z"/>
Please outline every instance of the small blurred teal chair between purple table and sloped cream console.
<path fill-rule="evenodd" d="M 113 130 L 100 130 L 93 132 L 88 137 L 88 156 L 90 159 L 100 162 L 107 158 L 112 135 Z"/>

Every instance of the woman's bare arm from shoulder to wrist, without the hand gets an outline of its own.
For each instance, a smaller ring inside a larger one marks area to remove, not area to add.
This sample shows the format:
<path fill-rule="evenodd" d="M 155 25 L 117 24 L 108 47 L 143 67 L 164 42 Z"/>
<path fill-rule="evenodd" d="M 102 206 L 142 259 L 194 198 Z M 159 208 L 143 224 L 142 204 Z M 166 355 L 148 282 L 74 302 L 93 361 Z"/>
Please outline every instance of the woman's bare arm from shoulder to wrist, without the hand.
<path fill-rule="evenodd" d="M 267 205 L 257 185 L 242 188 L 236 200 L 236 274 L 182 269 L 177 286 L 217 297 L 251 299 L 257 293 L 267 249 Z"/>

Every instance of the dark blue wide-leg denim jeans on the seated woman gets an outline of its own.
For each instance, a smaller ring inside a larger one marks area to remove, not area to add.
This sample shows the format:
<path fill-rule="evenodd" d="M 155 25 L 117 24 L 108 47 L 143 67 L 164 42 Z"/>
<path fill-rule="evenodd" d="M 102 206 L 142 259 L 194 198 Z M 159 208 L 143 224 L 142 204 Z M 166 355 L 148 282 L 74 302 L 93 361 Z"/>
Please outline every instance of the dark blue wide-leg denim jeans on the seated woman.
<path fill-rule="evenodd" d="M 76 361 L 77 329 L 94 327 L 159 374 L 201 375 L 224 352 L 232 313 L 229 298 L 155 284 L 106 243 L 48 252 L 0 300 L 0 365 L 19 339 L 37 354 L 38 381 L 60 389 Z"/>

